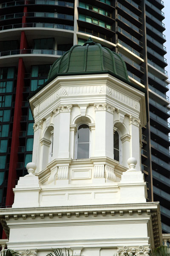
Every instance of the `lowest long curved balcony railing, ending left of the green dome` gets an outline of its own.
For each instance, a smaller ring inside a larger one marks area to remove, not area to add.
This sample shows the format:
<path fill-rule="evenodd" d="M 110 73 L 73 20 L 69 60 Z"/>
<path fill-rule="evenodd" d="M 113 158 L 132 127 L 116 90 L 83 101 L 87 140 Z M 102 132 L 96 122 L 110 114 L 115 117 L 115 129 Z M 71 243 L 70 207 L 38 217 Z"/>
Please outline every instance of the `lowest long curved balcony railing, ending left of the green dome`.
<path fill-rule="evenodd" d="M 55 51 L 55 50 L 44 50 L 44 49 L 23 49 L 23 50 L 11 50 L 0 52 L 0 57 L 16 54 L 50 54 L 50 55 L 60 55 L 62 56 L 65 51 Z"/>

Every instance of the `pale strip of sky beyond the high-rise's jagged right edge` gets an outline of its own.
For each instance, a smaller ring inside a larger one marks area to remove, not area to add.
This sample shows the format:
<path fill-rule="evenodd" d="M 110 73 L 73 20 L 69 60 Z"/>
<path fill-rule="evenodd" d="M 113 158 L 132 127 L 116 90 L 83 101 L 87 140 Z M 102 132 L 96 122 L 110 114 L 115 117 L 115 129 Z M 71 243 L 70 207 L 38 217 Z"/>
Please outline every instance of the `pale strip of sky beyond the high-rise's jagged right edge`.
<path fill-rule="evenodd" d="M 170 0 L 163 0 L 164 2 L 164 9 L 162 11 L 165 14 L 165 19 L 162 22 L 165 24 L 166 30 L 163 32 L 166 36 L 167 42 L 164 43 L 164 46 L 167 47 L 167 54 L 164 57 L 167 59 L 167 67 L 165 70 L 168 72 L 169 80 L 170 80 Z M 170 85 L 169 85 L 170 88 Z M 170 91 L 167 92 L 167 95 L 170 97 Z"/>

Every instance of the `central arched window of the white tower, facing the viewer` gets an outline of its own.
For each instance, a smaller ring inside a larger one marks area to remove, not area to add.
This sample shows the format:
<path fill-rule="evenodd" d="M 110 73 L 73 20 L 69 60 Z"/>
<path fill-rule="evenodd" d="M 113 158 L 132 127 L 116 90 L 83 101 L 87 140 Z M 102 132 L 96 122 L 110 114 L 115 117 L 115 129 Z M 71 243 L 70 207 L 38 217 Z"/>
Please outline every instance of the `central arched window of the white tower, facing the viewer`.
<path fill-rule="evenodd" d="M 89 158 L 89 126 L 79 125 L 77 132 L 77 159 Z"/>

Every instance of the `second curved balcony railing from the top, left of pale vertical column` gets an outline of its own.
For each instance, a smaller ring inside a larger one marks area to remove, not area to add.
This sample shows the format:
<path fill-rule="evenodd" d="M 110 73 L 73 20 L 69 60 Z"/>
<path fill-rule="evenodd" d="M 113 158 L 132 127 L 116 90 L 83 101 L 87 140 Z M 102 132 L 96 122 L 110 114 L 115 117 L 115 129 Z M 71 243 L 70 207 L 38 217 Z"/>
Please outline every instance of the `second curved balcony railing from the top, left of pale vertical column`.
<path fill-rule="evenodd" d="M 24 12 L 24 13 L 6 14 L 6 15 L 0 16 L 0 20 L 22 18 L 23 16 L 47 17 L 47 18 L 57 18 L 57 19 L 63 19 L 63 20 L 74 20 L 73 15 L 54 13 L 54 12 Z"/>

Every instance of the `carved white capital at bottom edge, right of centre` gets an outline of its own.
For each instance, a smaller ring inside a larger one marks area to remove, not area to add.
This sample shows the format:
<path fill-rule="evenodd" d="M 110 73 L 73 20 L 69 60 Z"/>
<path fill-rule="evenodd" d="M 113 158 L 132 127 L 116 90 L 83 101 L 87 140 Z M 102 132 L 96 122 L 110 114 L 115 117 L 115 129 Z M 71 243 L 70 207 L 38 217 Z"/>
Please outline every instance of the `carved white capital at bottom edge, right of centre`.
<path fill-rule="evenodd" d="M 149 247 L 127 247 L 124 246 L 123 248 L 119 248 L 117 250 L 117 254 L 119 256 L 127 256 L 127 255 L 135 255 L 135 256 L 149 256 L 150 255 L 150 248 Z"/>

